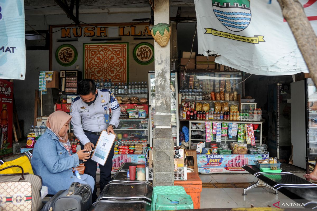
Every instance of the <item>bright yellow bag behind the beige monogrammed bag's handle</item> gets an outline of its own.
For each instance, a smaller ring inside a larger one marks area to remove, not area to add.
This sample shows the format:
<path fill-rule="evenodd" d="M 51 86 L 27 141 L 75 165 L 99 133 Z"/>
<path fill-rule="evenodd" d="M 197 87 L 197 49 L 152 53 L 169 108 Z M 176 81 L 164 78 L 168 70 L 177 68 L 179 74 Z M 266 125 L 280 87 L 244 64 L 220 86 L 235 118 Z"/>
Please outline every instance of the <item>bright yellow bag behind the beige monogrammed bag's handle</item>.
<path fill-rule="evenodd" d="M 23 168 L 24 173 L 34 174 L 29 158 L 25 155 L 20 158 L 16 158 L 15 160 L 4 162 L 4 164 L 0 165 L 0 169 L 11 165 L 19 165 Z M 20 168 L 16 167 L 0 171 L 0 174 L 21 174 L 21 171 L 22 170 Z"/>

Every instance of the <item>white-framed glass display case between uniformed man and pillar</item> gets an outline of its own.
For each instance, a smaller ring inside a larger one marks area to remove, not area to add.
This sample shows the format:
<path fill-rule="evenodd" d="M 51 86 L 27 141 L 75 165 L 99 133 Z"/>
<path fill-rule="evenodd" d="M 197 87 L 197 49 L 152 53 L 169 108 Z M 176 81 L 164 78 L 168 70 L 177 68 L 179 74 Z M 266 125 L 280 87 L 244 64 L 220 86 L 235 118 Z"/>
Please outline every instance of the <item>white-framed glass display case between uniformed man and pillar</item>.
<path fill-rule="evenodd" d="M 118 140 L 149 140 L 149 119 L 120 119 L 115 129 Z M 148 142 L 149 143 L 149 142 Z"/>

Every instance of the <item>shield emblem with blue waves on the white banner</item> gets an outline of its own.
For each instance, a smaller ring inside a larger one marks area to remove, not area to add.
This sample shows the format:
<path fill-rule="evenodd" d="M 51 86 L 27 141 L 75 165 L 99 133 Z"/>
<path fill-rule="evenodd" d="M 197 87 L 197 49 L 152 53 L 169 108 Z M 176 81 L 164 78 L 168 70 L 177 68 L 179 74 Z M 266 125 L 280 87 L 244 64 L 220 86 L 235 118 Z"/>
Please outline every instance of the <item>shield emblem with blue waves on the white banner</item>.
<path fill-rule="evenodd" d="M 251 21 L 250 0 L 212 0 L 218 20 L 231 31 L 239 32 Z"/>

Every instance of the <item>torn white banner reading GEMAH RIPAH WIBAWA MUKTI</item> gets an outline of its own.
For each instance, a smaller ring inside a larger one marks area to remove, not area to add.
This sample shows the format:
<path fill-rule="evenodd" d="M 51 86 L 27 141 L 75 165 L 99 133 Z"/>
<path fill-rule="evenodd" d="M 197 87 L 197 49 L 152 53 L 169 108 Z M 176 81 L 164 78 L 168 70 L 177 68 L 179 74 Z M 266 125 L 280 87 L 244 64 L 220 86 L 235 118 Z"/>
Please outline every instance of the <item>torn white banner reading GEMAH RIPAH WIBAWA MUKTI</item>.
<path fill-rule="evenodd" d="M 315 33 L 317 0 L 300 0 Z M 198 53 L 256 75 L 308 72 L 277 0 L 195 0 Z"/>

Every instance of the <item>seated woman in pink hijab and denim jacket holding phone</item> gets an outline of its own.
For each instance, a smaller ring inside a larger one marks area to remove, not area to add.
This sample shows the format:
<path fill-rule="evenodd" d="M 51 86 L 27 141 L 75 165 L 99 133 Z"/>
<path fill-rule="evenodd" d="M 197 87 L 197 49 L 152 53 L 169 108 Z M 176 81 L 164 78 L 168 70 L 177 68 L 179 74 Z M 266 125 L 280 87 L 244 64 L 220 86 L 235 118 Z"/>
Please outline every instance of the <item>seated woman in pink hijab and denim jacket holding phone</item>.
<path fill-rule="evenodd" d="M 80 150 L 71 154 L 68 140 L 68 124 L 71 116 L 63 111 L 55 111 L 47 119 L 47 129 L 37 140 L 31 161 L 34 174 L 41 176 L 49 194 L 68 189 L 73 182 L 87 183 L 94 189 L 94 178 L 83 174 L 78 179 L 73 169 L 79 161 L 90 158 L 90 153 Z"/>

